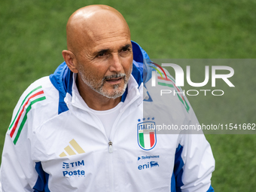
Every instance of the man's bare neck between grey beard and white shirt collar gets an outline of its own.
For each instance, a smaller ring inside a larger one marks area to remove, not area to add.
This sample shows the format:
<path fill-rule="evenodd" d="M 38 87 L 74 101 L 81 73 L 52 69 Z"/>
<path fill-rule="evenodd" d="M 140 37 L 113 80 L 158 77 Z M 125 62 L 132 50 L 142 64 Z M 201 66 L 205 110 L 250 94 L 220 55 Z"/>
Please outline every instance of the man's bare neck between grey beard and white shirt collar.
<path fill-rule="evenodd" d="M 84 84 L 79 76 L 77 78 L 76 84 L 81 97 L 84 99 L 84 102 L 86 102 L 88 107 L 92 108 L 93 110 L 105 111 L 114 108 L 121 101 L 121 97 L 117 97 L 116 99 L 109 99 L 106 96 L 102 96 L 95 90 L 92 90 L 90 87 L 88 87 L 87 84 Z"/>

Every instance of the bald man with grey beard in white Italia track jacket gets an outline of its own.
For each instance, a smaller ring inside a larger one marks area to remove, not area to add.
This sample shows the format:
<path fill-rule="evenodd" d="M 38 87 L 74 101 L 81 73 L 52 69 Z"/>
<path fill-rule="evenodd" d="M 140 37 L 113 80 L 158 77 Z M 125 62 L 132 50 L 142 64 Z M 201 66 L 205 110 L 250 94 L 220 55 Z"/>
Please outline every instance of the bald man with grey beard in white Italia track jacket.
<path fill-rule="evenodd" d="M 197 118 L 178 97 L 159 108 L 153 69 L 147 61 L 143 68 L 148 55 L 130 41 L 123 16 L 106 5 L 79 9 L 67 44 L 65 62 L 14 109 L 2 191 L 213 191 L 215 162 L 203 134 L 145 128 Z"/>

